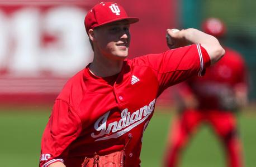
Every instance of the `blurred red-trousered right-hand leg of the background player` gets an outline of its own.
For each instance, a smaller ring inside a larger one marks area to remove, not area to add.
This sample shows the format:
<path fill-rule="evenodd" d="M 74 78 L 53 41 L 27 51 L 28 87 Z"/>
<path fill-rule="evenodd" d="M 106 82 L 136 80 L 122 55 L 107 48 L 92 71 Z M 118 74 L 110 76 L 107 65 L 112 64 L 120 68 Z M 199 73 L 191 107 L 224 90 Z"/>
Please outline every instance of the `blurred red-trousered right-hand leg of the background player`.
<path fill-rule="evenodd" d="M 216 112 L 211 115 L 211 121 L 224 144 L 227 166 L 243 166 L 242 146 L 236 129 L 235 116 L 230 112 Z"/>

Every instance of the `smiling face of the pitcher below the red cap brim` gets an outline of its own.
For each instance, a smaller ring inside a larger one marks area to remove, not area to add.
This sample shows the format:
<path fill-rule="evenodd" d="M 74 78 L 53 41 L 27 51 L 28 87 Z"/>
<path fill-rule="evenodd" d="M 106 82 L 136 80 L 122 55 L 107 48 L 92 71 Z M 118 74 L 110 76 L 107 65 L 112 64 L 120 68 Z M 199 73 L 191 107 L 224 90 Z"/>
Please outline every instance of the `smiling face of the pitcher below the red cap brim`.
<path fill-rule="evenodd" d="M 129 27 L 127 21 L 118 21 L 95 28 L 96 50 L 108 58 L 124 60 L 130 46 Z"/>

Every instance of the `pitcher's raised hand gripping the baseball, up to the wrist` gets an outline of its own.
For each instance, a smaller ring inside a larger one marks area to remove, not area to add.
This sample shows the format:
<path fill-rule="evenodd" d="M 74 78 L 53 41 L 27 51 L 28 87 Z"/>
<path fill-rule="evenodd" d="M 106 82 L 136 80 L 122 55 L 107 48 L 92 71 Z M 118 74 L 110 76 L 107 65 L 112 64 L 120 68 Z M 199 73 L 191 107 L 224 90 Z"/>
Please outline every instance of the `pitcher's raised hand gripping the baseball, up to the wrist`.
<path fill-rule="evenodd" d="M 167 29 L 166 39 L 167 45 L 170 49 L 183 47 L 190 45 L 186 38 L 184 38 L 185 30 L 177 30 L 177 29 Z"/>

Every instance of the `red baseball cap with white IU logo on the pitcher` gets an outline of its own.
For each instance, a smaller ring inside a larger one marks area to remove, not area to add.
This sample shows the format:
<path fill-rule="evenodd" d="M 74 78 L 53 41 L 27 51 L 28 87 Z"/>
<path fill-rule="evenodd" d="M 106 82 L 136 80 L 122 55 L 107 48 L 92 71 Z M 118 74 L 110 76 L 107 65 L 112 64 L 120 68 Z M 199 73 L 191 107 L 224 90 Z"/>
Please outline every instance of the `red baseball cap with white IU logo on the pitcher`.
<path fill-rule="evenodd" d="M 101 2 L 96 4 L 87 13 L 84 19 L 84 25 L 88 34 L 90 29 L 123 19 L 127 20 L 130 24 L 139 21 L 139 18 L 128 17 L 125 9 L 115 2 Z"/>

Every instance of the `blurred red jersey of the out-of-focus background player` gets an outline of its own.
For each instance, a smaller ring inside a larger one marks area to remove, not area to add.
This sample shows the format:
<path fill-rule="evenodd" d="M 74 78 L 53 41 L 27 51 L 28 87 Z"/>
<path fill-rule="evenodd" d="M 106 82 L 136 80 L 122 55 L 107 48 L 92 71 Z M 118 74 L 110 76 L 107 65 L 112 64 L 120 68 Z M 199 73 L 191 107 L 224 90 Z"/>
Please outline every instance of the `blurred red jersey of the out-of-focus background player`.
<path fill-rule="evenodd" d="M 196 95 L 199 109 L 236 110 L 235 89 L 247 90 L 248 77 L 243 57 L 225 48 L 225 56 L 207 69 L 205 76 L 192 77 L 187 81 Z M 183 92 L 186 89 L 183 87 Z M 189 94 L 189 90 L 187 90 Z"/>

